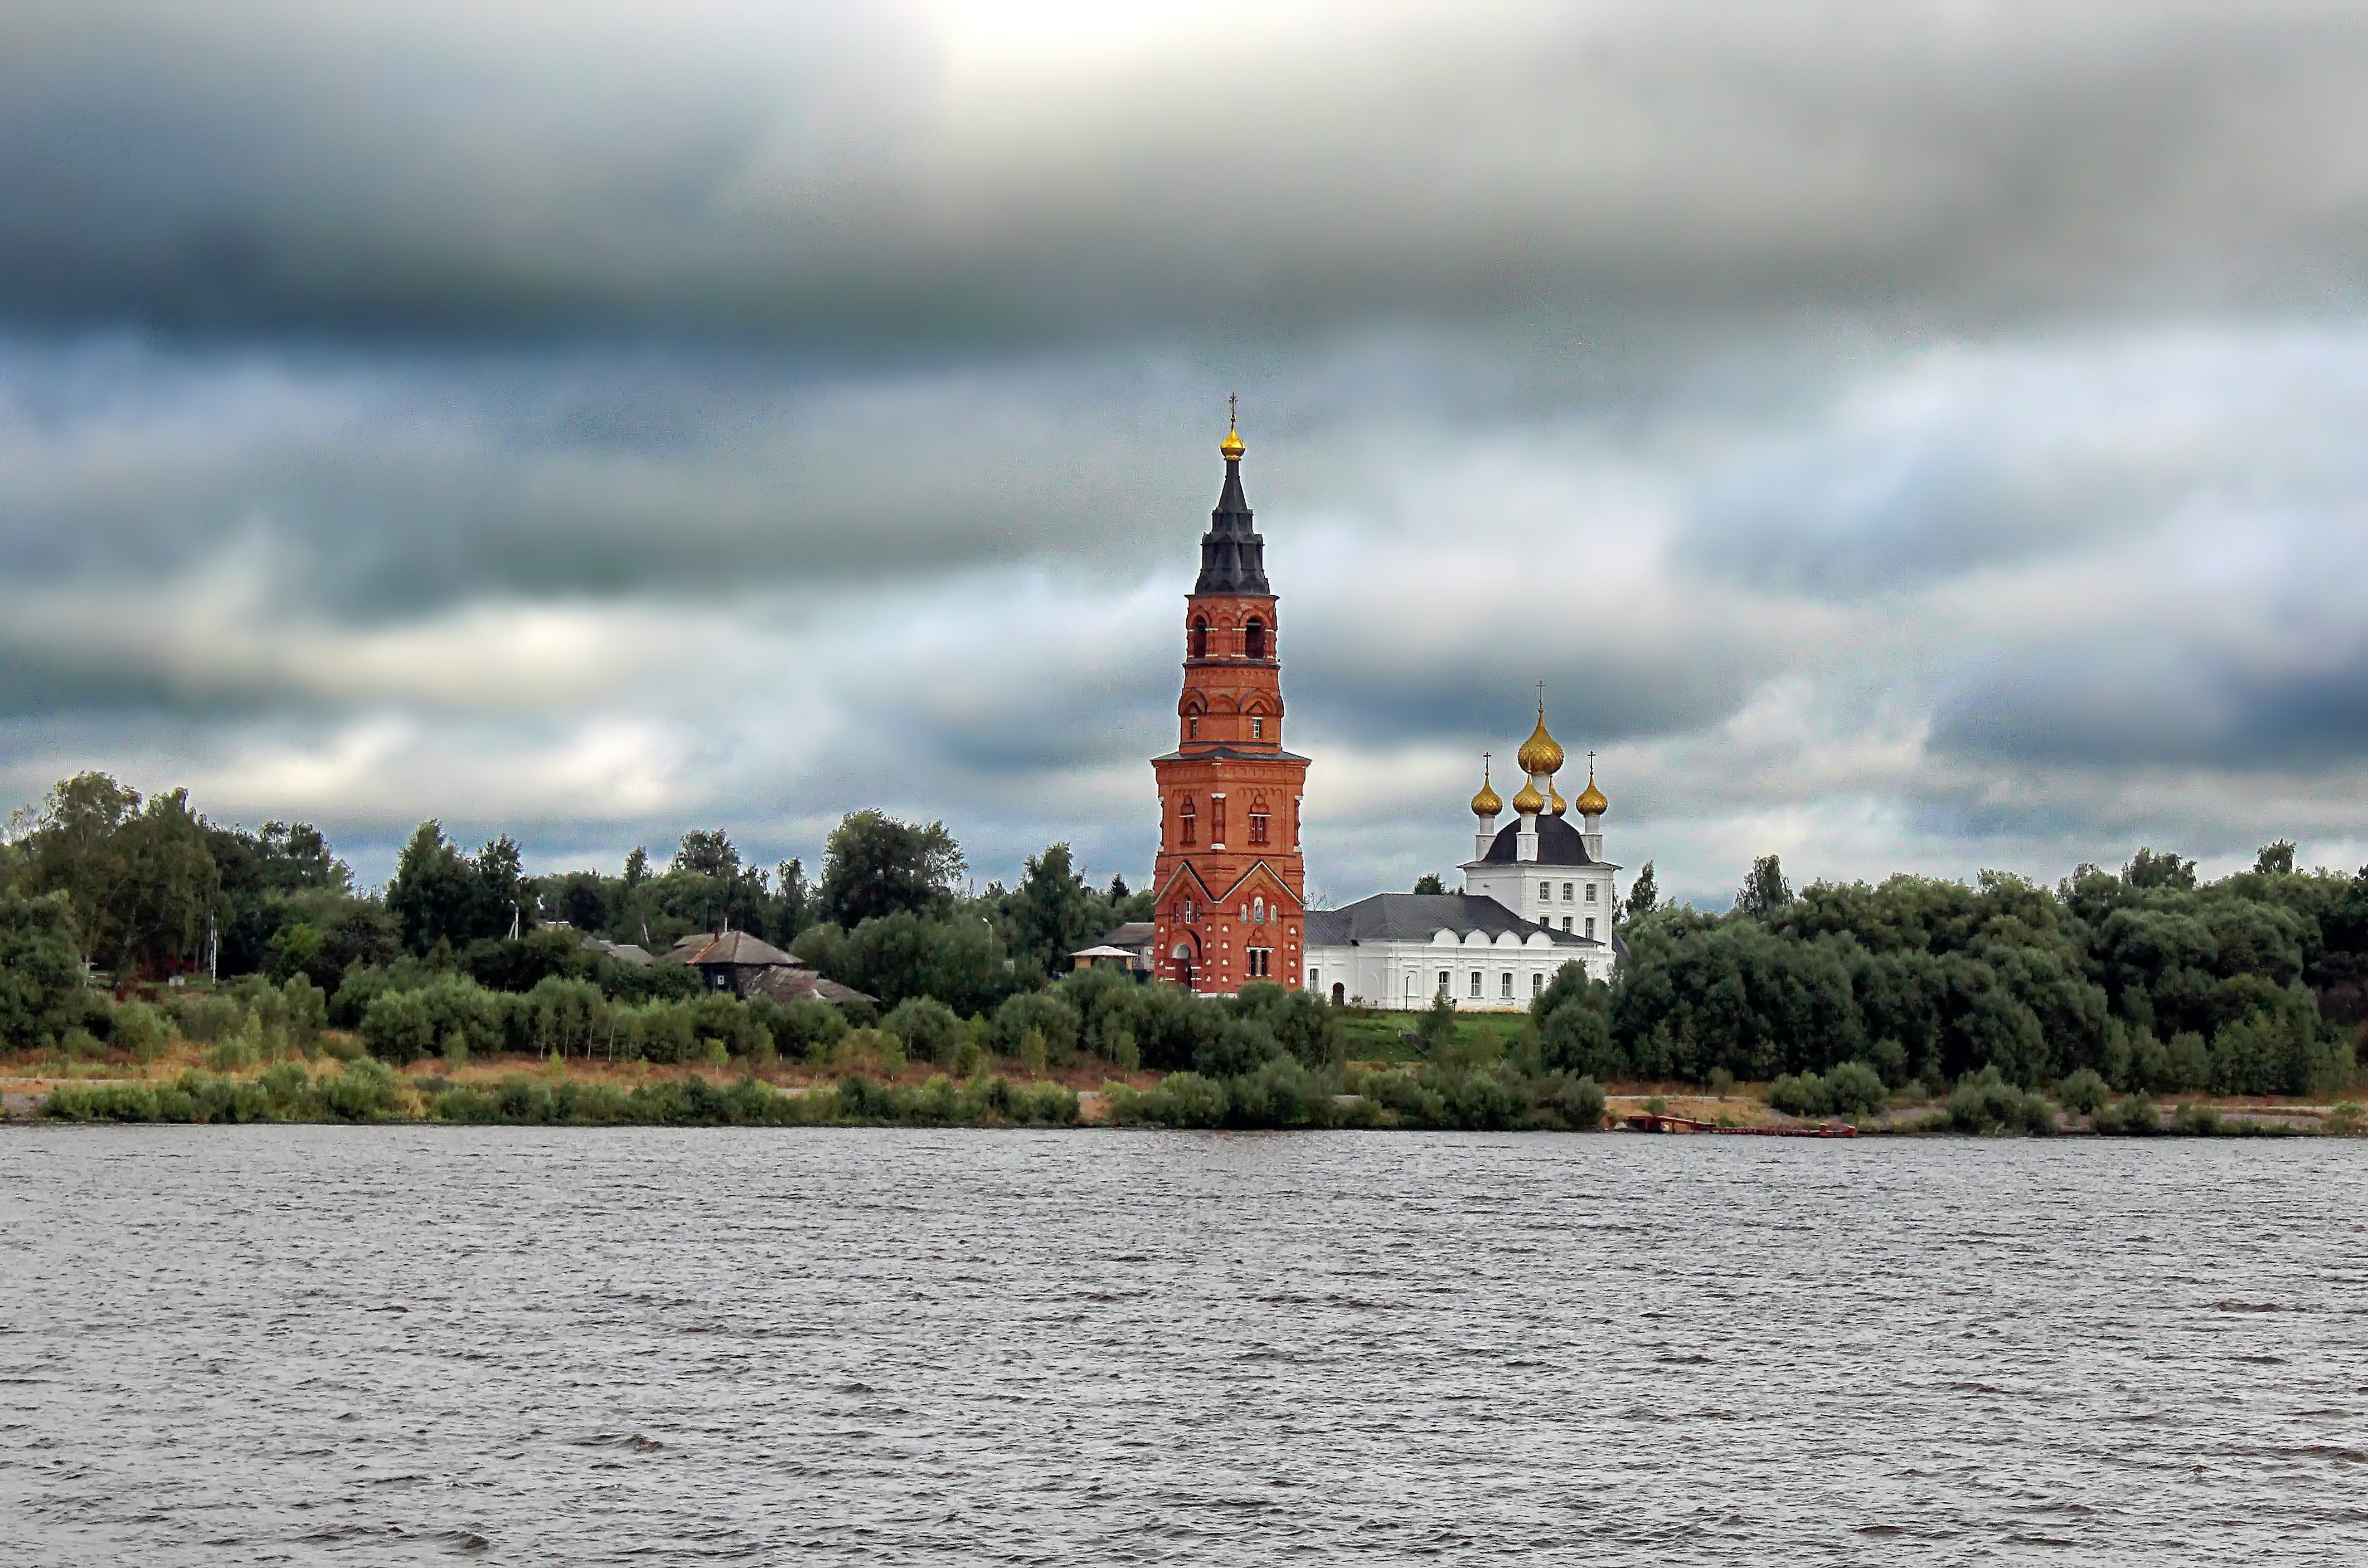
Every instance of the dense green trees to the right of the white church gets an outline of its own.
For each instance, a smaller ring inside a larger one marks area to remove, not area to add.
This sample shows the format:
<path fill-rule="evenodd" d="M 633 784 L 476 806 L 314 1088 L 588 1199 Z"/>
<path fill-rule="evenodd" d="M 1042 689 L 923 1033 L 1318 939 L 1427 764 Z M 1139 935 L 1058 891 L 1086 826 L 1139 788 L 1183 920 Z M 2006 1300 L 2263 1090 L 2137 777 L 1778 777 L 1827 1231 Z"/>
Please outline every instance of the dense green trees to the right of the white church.
<path fill-rule="evenodd" d="M 2299 872 L 2287 841 L 2219 881 L 2141 848 L 2053 888 L 1982 872 L 1795 891 L 1769 855 L 1726 914 L 1632 895 L 1620 936 L 1617 983 L 1539 1009 L 1549 1061 L 1693 1082 L 1859 1063 L 1892 1090 L 1994 1071 L 2330 1094 L 2368 1021 L 2368 869 Z"/>

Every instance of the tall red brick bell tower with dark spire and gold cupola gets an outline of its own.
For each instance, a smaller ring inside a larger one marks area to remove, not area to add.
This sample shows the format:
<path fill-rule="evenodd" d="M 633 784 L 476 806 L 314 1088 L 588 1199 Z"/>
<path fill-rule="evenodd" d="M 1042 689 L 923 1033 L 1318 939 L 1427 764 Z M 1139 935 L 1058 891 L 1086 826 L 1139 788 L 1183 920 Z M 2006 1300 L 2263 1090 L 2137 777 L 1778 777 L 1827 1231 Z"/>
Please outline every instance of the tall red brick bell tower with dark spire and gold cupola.
<path fill-rule="evenodd" d="M 1201 535 L 1201 580 L 1184 599 L 1177 748 L 1151 758 L 1160 784 L 1153 973 L 1203 992 L 1253 981 L 1298 990 L 1307 962 L 1307 758 L 1283 751 L 1267 542 L 1241 497 L 1241 433 L 1231 419 L 1227 426 L 1217 448 L 1224 490 Z"/>

